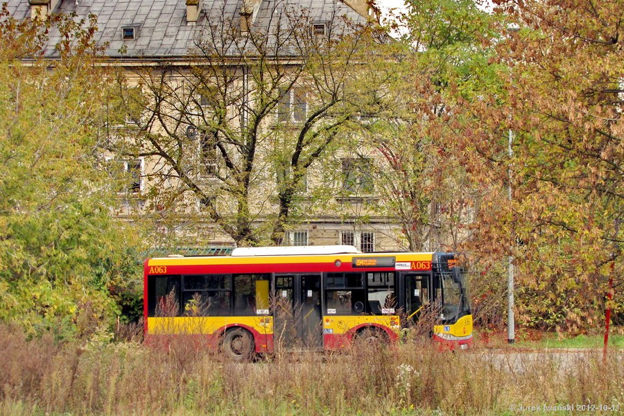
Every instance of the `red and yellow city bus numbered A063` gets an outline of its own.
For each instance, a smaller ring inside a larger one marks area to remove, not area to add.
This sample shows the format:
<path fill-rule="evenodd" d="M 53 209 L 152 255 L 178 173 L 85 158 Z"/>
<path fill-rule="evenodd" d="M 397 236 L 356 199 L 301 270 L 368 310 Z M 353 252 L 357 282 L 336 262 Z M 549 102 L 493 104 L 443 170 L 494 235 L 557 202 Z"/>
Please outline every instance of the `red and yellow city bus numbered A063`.
<path fill-rule="evenodd" d="M 340 349 L 358 339 L 393 342 L 401 326 L 437 305 L 433 339 L 463 349 L 472 316 L 455 264 L 450 253 L 362 253 L 344 245 L 148 259 L 145 338 L 197 336 L 232 358 L 272 352 L 276 343 Z"/>

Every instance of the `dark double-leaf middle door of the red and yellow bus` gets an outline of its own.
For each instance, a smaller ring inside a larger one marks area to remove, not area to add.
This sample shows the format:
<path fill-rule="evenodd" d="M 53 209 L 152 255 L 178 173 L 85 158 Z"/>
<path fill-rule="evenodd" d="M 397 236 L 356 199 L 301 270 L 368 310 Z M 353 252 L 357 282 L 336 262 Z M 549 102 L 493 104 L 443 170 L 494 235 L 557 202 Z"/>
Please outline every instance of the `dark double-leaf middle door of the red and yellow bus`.
<path fill-rule="evenodd" d="M 272 304 L 276 347 L 322 347 L 320 275 L 275 275 Z"/>

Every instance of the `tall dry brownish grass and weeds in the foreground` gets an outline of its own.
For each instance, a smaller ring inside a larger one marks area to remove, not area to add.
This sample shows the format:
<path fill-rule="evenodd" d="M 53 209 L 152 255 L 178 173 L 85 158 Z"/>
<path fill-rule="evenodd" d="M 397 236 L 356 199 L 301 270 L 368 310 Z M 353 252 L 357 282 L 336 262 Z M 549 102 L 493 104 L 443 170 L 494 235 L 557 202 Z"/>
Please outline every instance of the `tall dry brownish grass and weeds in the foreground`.
<path fill-rule="evenodd" d="M 603 364 L 600 354 L 523 358 L 406 344 L 232 363 L 188 343 L 55 344 L 6 326 L 0 350 L 5 415 L 492 415 L 519 404 L 624 403 L 615 354 Z"/>

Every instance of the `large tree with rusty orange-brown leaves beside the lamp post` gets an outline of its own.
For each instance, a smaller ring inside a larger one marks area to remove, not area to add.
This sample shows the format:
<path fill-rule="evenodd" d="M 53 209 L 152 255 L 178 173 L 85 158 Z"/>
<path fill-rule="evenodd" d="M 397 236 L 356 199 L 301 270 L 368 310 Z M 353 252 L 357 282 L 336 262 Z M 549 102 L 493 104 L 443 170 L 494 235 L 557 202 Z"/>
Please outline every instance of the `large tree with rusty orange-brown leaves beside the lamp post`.
<path fill-rule="evenodd" d="M 601 323 L 612 261 L 622 285 L 621 4 L 495 3 L 520 31 L 496 45 L 503 88 L 465 103 L 478 120 L 467 165 L 490 184 L 474 247 L 514 257 L 522 322 L 586 330 Z"/>

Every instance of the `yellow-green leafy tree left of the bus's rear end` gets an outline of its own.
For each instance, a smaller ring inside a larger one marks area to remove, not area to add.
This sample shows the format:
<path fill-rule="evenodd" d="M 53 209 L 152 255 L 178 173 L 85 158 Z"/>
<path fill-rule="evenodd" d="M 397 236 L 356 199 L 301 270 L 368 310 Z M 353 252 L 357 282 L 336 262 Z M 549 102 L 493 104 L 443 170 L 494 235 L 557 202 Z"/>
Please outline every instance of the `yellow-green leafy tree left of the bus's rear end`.
<path fill-rule="evenodd" d="M 109 284 L 134 261 L 134 233 L 110 211 L 118 182 L 101 168 L 95 23 L 0 12 L 0 320 L 31 335 L 105 329 Z"/>

